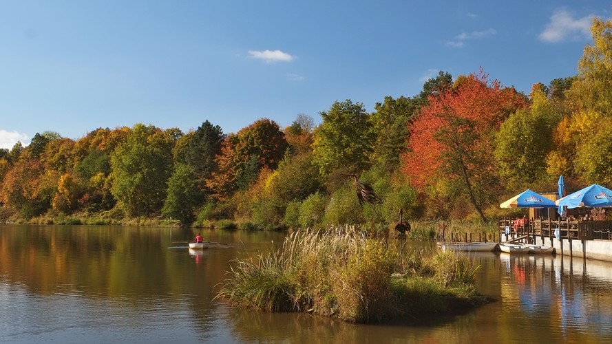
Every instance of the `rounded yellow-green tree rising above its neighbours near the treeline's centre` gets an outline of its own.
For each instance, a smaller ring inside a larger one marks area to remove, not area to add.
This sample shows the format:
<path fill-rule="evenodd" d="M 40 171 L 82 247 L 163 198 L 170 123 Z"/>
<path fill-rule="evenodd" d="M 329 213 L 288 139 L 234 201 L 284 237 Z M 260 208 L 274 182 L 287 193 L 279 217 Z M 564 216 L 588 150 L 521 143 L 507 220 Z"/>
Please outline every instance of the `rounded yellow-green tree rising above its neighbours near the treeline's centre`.
<path fill-rule="evenodd" d="M 323 122 L 315 131 L 313 154 L 321 175 L 340 167 L 354 173 L 366 169 L 376 135 L 363 104 L 336 101 L 320 114 Z"/>

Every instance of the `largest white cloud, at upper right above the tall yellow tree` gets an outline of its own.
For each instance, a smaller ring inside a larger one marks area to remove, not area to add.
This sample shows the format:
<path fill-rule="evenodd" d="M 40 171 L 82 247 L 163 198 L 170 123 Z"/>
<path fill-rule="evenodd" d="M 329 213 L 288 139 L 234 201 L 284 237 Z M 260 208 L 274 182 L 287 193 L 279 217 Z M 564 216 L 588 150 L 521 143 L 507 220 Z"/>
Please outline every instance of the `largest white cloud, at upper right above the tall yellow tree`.
<path fill-rule="evenodd" d="M 540 40 L 546 42 L 559 42 L 563 39 L 580 39 L 591 36 L 591 20 L 594 15 L 574 19 L 573 14 L 565 8 L 558 8 L 550 17 L 550 22 L 542 33 L 538 35 Z"/>

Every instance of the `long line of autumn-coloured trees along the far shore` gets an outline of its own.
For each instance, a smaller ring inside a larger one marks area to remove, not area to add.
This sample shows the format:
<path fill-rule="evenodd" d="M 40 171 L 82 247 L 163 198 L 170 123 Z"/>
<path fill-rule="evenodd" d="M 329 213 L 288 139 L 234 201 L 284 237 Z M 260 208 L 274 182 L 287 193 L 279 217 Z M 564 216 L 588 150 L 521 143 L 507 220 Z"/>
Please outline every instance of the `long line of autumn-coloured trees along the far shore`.
<path fill-rule="evenodd" d="M 412 97 L 368 113 L 336 101 L 321 124 L 261 118 L 237 133 L 205 120 L 187 133 L 153 125 L 98 128 L 72 140 L 36 133 L 0 149 L 5 217 L 158 216 L 184 225 L 304 228 L 498 214 L 530 188 L 612 184 L 612 21 L 593 19 L 578 74 L 529 94 L 483 69 L 439 72 Z M 383 204 L 363 208 L 346 173 Z M 9 215 L 6 215 L 9 214 Z"/>

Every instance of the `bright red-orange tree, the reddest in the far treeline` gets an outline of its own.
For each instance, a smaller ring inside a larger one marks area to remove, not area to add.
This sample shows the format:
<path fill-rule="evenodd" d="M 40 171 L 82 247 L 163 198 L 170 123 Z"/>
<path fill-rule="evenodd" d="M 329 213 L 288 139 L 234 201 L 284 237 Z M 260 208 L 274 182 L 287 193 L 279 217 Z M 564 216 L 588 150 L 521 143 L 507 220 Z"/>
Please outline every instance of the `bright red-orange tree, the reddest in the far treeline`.
<path fill-rule="evenodd" d="M 408 151 L 402 156 L 403 171 L 417 189 L 450 180 L 483 220 L 496 179 L 494 133 L 509 114 L 527 104 L 514 88 L 487 78 L 481 69 L 430 96 L 410 128 Z"/>

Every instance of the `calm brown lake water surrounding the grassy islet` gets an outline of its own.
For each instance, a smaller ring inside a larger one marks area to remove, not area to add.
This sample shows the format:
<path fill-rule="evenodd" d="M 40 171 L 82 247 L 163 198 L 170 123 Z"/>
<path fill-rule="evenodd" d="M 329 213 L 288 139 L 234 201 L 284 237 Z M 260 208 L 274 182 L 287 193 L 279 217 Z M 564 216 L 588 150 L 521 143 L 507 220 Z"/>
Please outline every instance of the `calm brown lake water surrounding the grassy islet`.
<path fill-rule="evenodd" d="M 262 313 L 213 300 L 235 258 L 284 233 L 0 225 L 1 343 L 611 343 L 612 264 L 570 257 L 470 255 L 498 301 L 454 316 L 355 325 Z M 430 243 L 412 242 L 416 247 Z M 434 248 L 432 247 L 432 250 Z"/>

